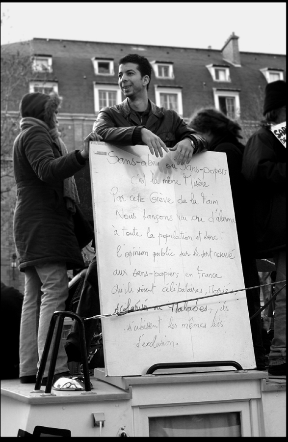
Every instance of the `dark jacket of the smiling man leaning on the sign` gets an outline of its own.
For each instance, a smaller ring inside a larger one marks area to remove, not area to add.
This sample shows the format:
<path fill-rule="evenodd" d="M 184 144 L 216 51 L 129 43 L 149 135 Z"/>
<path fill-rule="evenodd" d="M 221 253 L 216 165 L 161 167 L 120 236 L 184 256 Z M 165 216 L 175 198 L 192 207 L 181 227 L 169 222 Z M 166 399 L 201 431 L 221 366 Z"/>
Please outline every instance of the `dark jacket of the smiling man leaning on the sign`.
<path fill-rule="evenodd" d="M 101 135 L 108 143 L 127 146 L 144 144 L 140 131 L 146 127 L 161 138 L 167 147 L 174 147 L 182 139 L 190 138 L 194 141 L 198 152 L 206 148 L 206 141 L 196 135 L 196 132 L 187 126 L 176 111 L 159 108 L 150 100 L 149 104 L 150 112 L 145 125 L 142 124 L 137 112 L 131 109 L 126 99 L 120 105 L 103 108 L 94 123 L 93 131 Z M 138 132 L 138 137 L 135 137 L 135 131 Z"/>

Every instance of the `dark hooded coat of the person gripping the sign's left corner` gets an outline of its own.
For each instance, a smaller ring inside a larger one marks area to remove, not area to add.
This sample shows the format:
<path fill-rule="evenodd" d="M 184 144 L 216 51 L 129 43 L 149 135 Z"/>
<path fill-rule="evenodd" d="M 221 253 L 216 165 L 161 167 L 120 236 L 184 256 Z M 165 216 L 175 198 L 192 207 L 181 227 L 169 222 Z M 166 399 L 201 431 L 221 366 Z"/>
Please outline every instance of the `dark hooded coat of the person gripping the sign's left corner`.
<path fill-rule="evenodd" d="M 52 128 L 59 104 L 56 94 L 26 94 L 20 105 L 21 116 L 37 118 Z M 40 125 L 22 130 L 15 139 L 14 240 L 21 271 L 58 261 L 66 262 L 68 270 L 84 267 L 73 215 L 63 197 L 64 179 L 84 167 L 77 153 L 62 156 L 49 130 Z"/>

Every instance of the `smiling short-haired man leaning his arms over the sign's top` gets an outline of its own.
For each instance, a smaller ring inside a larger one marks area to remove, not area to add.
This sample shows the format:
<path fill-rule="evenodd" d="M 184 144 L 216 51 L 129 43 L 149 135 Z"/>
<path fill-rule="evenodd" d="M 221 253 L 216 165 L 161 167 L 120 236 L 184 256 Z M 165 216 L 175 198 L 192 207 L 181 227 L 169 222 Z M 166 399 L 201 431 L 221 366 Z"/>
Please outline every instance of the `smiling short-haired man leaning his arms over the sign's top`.
<path fill-rule="evenodd" d="M 147 145 L 151 154 L 176 151 L 177 164 L 190 163 L 193 153 L 206 150 L 206 141 L 187 126 L 174 110 L 159 108 L 148 98 L 152 66 L 147 58 L 129 54 L 121 58 L 119 86 L 127 97 L 120 105 L 103 108 L 93 131 L 117 146 Z"/>

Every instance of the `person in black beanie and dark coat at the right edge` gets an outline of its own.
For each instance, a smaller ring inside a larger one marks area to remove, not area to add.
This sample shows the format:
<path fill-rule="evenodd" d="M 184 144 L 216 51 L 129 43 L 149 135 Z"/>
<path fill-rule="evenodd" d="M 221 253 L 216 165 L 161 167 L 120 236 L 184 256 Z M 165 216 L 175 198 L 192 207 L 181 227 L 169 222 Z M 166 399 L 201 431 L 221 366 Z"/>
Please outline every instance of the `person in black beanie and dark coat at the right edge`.
<path fill-rule="evenodd" d="M 276 264 L 276 291 L 286 279 L 286 149 L 271 126 L 286 121 L 286 83 L 268 83 L 265 88 L 265 120 L 248 140 L 242 173 L 251 183 L 254 197 L 252 221 L 256 257 L 273 256 Z M 286 375 L 286 288 L 275 299 L 274 338 L 269 353 L 271 375 Z"/>

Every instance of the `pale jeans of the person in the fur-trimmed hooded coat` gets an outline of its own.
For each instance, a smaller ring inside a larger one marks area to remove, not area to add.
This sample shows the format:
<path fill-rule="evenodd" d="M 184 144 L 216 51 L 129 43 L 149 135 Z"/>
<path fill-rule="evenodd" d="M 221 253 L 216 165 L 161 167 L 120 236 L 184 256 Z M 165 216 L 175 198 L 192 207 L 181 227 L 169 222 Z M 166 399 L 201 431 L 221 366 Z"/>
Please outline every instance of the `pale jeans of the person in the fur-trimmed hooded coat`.
<path fill-rule="evenodd" d="M 37 375 L 52 314 L 56 310 L 65 310 L 67 297 L 66 263 L 52 262 L 26 268 L 20 327 L 20 377 Z M 44 377 L 48 376 L 56 328 L 57 322 Z M 69 369 L 61 340 L 55 373 L 65 371 Z"/>

